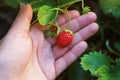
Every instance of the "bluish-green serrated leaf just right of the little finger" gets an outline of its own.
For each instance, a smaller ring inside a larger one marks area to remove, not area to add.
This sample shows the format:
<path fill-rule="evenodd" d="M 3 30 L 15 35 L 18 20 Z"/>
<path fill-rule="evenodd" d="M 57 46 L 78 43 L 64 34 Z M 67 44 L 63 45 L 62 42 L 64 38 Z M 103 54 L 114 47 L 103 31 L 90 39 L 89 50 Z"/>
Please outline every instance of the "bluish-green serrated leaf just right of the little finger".
<path fill-rule="evenodd" d="M 97 70 L 103 65 L 110 65 L 112 59 L 101 52 L 90 52 L 81 58 L 81 66 L 89 70 L 91 75 L 98 76 Z"/>

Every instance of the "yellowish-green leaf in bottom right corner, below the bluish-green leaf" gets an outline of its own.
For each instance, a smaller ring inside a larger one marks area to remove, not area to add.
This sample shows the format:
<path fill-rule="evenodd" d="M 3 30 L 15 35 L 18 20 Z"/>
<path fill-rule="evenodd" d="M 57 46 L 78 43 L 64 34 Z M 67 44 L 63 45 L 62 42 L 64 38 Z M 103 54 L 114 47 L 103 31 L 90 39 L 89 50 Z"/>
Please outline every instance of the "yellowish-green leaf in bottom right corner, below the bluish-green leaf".
<path fill-rule="evenodd" d="M 120 80 L 120 58 L 115 60 L 114 66 L 102 66 L 98 69 L 98 80 Z"/>

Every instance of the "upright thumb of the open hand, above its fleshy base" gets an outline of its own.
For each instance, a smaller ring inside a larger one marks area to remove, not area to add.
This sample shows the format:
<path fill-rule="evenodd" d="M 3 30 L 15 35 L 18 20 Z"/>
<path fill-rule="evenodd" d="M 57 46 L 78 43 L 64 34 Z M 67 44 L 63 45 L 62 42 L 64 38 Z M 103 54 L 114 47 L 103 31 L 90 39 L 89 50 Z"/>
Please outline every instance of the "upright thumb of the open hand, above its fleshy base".
<path fill-rule="evenodd" d="M 11 29 L 9 30 L 10 33 L 24 33 L 29 32 L 30 22 L 32 19 L 32 8 L 31 5 L 21 5 L 20 11 L 12 24 Z"/>

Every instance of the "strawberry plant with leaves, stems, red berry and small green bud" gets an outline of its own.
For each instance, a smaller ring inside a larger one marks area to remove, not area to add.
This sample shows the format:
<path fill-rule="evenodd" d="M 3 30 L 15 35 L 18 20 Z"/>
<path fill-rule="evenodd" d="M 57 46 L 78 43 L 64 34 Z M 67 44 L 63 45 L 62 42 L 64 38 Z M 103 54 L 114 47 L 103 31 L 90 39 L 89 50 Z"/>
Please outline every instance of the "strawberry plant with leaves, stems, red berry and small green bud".
<path fill-rule="evenodd" d="M 31 4 L 33 12 L 37 13 L 37 19 L 32 24 L 38 21 L 42 26 L 49 26 L 49 29 L 45 31 L 46 36 L 57 37 L 57 45 L 59 47 L 68 46 L 73 39 L 73 34 L 70 32 L 70 17 L 68 15 L 68 7 L 72 4 L 79 2 L 80 0 L 19 0 L 20 3 Z M 83 13 L 88 13 L 90 9 L 84 7 L 84 1 L 82 0 Z M 60 31 L 59 25 L 55 22 L 58 14 L 64 13 L 68 17 L 68 29 L 67 31 Z M 56 28 L 56 31 L 53 31 Z M 52 27 L 52 28 L 51 28 Z M 52 30 L 53 29 L 53 30 Z M 60 33 L 60 34 L 59 34 Z M 64 38 L 62 38 L 64 37 Z M 65 44 L 64 44 L 64 43 Z"/>

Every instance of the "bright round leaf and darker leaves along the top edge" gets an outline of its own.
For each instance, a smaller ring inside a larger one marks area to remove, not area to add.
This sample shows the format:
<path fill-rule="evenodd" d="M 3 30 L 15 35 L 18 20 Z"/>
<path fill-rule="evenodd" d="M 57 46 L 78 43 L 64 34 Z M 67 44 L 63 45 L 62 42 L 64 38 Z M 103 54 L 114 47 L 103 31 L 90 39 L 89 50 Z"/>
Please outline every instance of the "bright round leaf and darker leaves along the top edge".
<path fill-rule="evenodd" d="M 22 3 L 27 0 L 19 0 Z M 78 2 L 80 0 L 32 0 L 30 3 L 33 6 L 33 11 L 38 12 L 38 21 L 41 25 L 45 26 L 53 23 L 59 12 L 64 12 L 63 8 L 67 8 L 68 6 Z"/>

